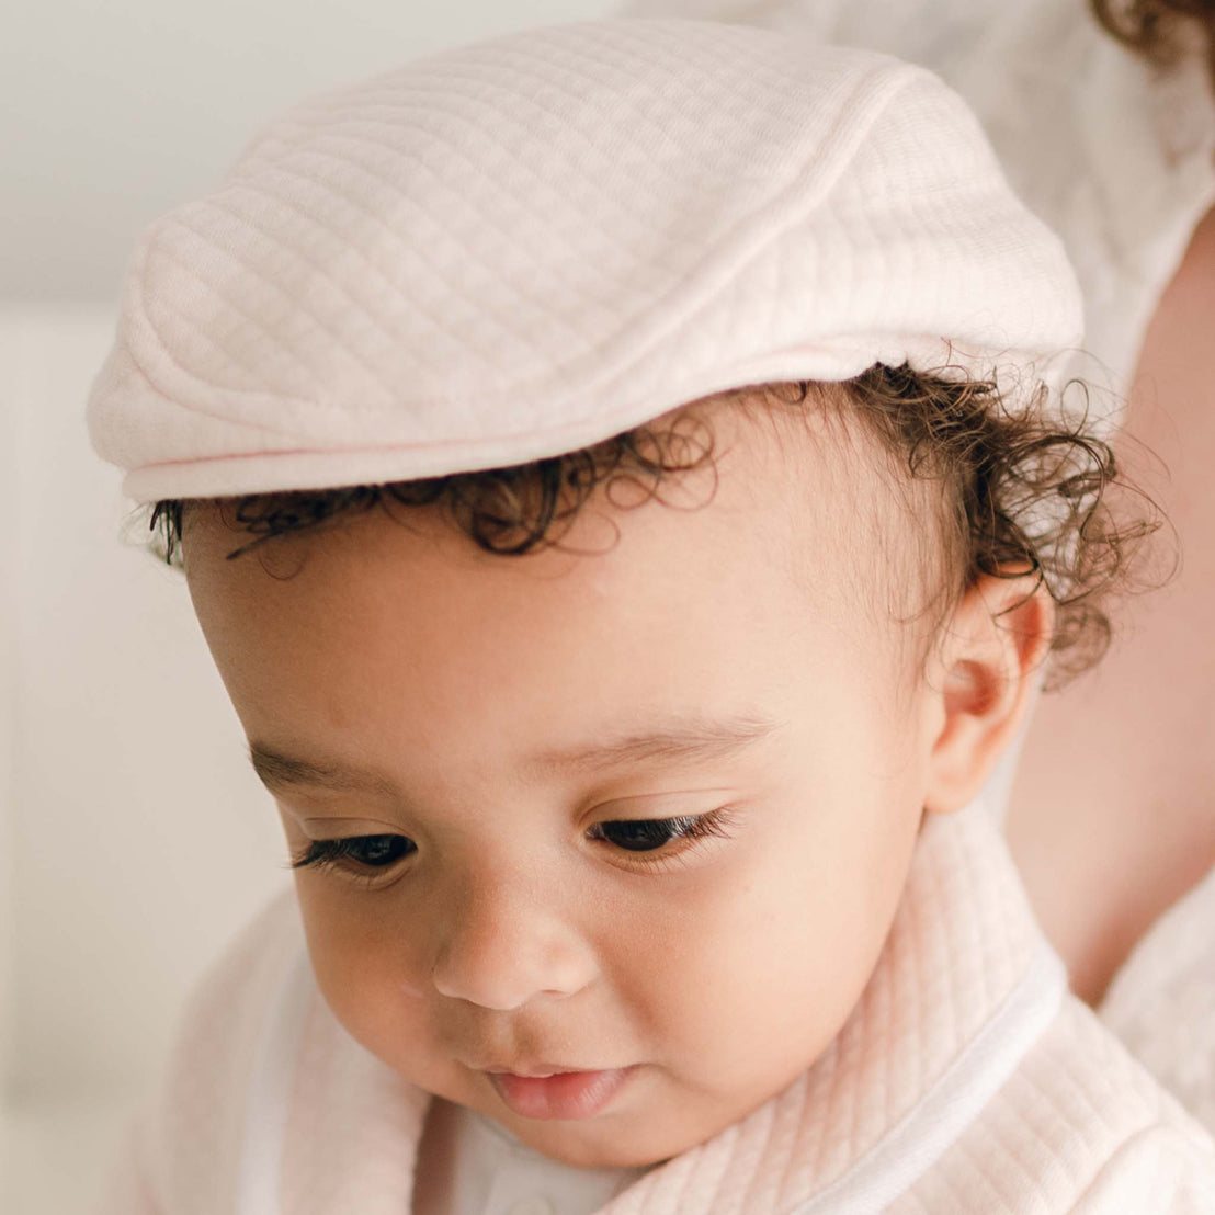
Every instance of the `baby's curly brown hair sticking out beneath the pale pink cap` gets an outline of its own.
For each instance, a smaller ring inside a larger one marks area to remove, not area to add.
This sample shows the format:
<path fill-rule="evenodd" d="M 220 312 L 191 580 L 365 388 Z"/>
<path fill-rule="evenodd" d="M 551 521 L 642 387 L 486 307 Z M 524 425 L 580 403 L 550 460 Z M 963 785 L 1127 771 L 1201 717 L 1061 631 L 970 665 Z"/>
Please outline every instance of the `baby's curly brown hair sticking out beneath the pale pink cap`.
<path fill-rule="evenodd" d="M 185 519 L 199 502 L 220 507 L 230 527 L 253 537 L 228 553 L 230 560 L 273 537 L 374 508 L 396 516 L 401 505 L 435 507 L 479 548 L 518 556 L 560 547 L 599 487 L 618 505 L 614 490 L 627 482 L 644 491 L 644 502 L 659 497 L 665 481 L 712 465 L 713 433 L 697 406 L 727 400 L 746 411 L 758 403 L 795 416 L 818 406 L 829 417 L 859 419 L 880 441 L 887 465 L 904 470 L 904 481 L 936 482 L 936 526 L 925 529 L 917 519 L 919 526 L 908 529 L 911 544 L 900 537 L 886 553 L 892 566 L 903 565 L 900 576 L 909 565 L 919 572 L 932 597 L 921 612 L 934 609 L 939 625 L 979 573 L 1035 572 L 1056 604 L 1046 686 L 1063 686 L 1106 651 L 1108 597 L 1157 584 L 1138 577 L 1137 558 L 1163 516 L 1121 477 L 1111 447 L 1086 433 L 1087 408 L 1074 424 L 1062 423 L 1052 394 L 1039 385 L 1028 406 L 1011 409 L 995 382 L 951 371 L 923 374 L 876 363 L 840 384 L 751 385 L 690 402 L 668 425 L 648 423 L 580 451 L 505 468 L 388 485 L 164 499 L 151 513 L 151 548 L 183 567 Z M 1081 383 L 1073 384 L 1086 396 Z M 892 476 L 892 484 L 898 480 Z M 1130 514 L 1115 509 L 1121 501 L 1111 496 L 1115 487 L 1130 491 L 1121 496 L 1134 503 Z"/>

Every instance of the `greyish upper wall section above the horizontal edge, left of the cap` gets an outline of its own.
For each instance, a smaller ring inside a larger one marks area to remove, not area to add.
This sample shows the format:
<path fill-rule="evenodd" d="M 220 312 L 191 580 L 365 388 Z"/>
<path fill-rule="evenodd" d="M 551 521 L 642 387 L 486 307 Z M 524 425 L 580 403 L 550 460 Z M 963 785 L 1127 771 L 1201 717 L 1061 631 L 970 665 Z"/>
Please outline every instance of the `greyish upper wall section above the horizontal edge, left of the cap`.
<path fill-rule="evenodd" d="M 112 299 L 139 230 L 253 125 L 442 46 L 611 0 L 55 0 L 0 24 L 0 296 Z"/>

